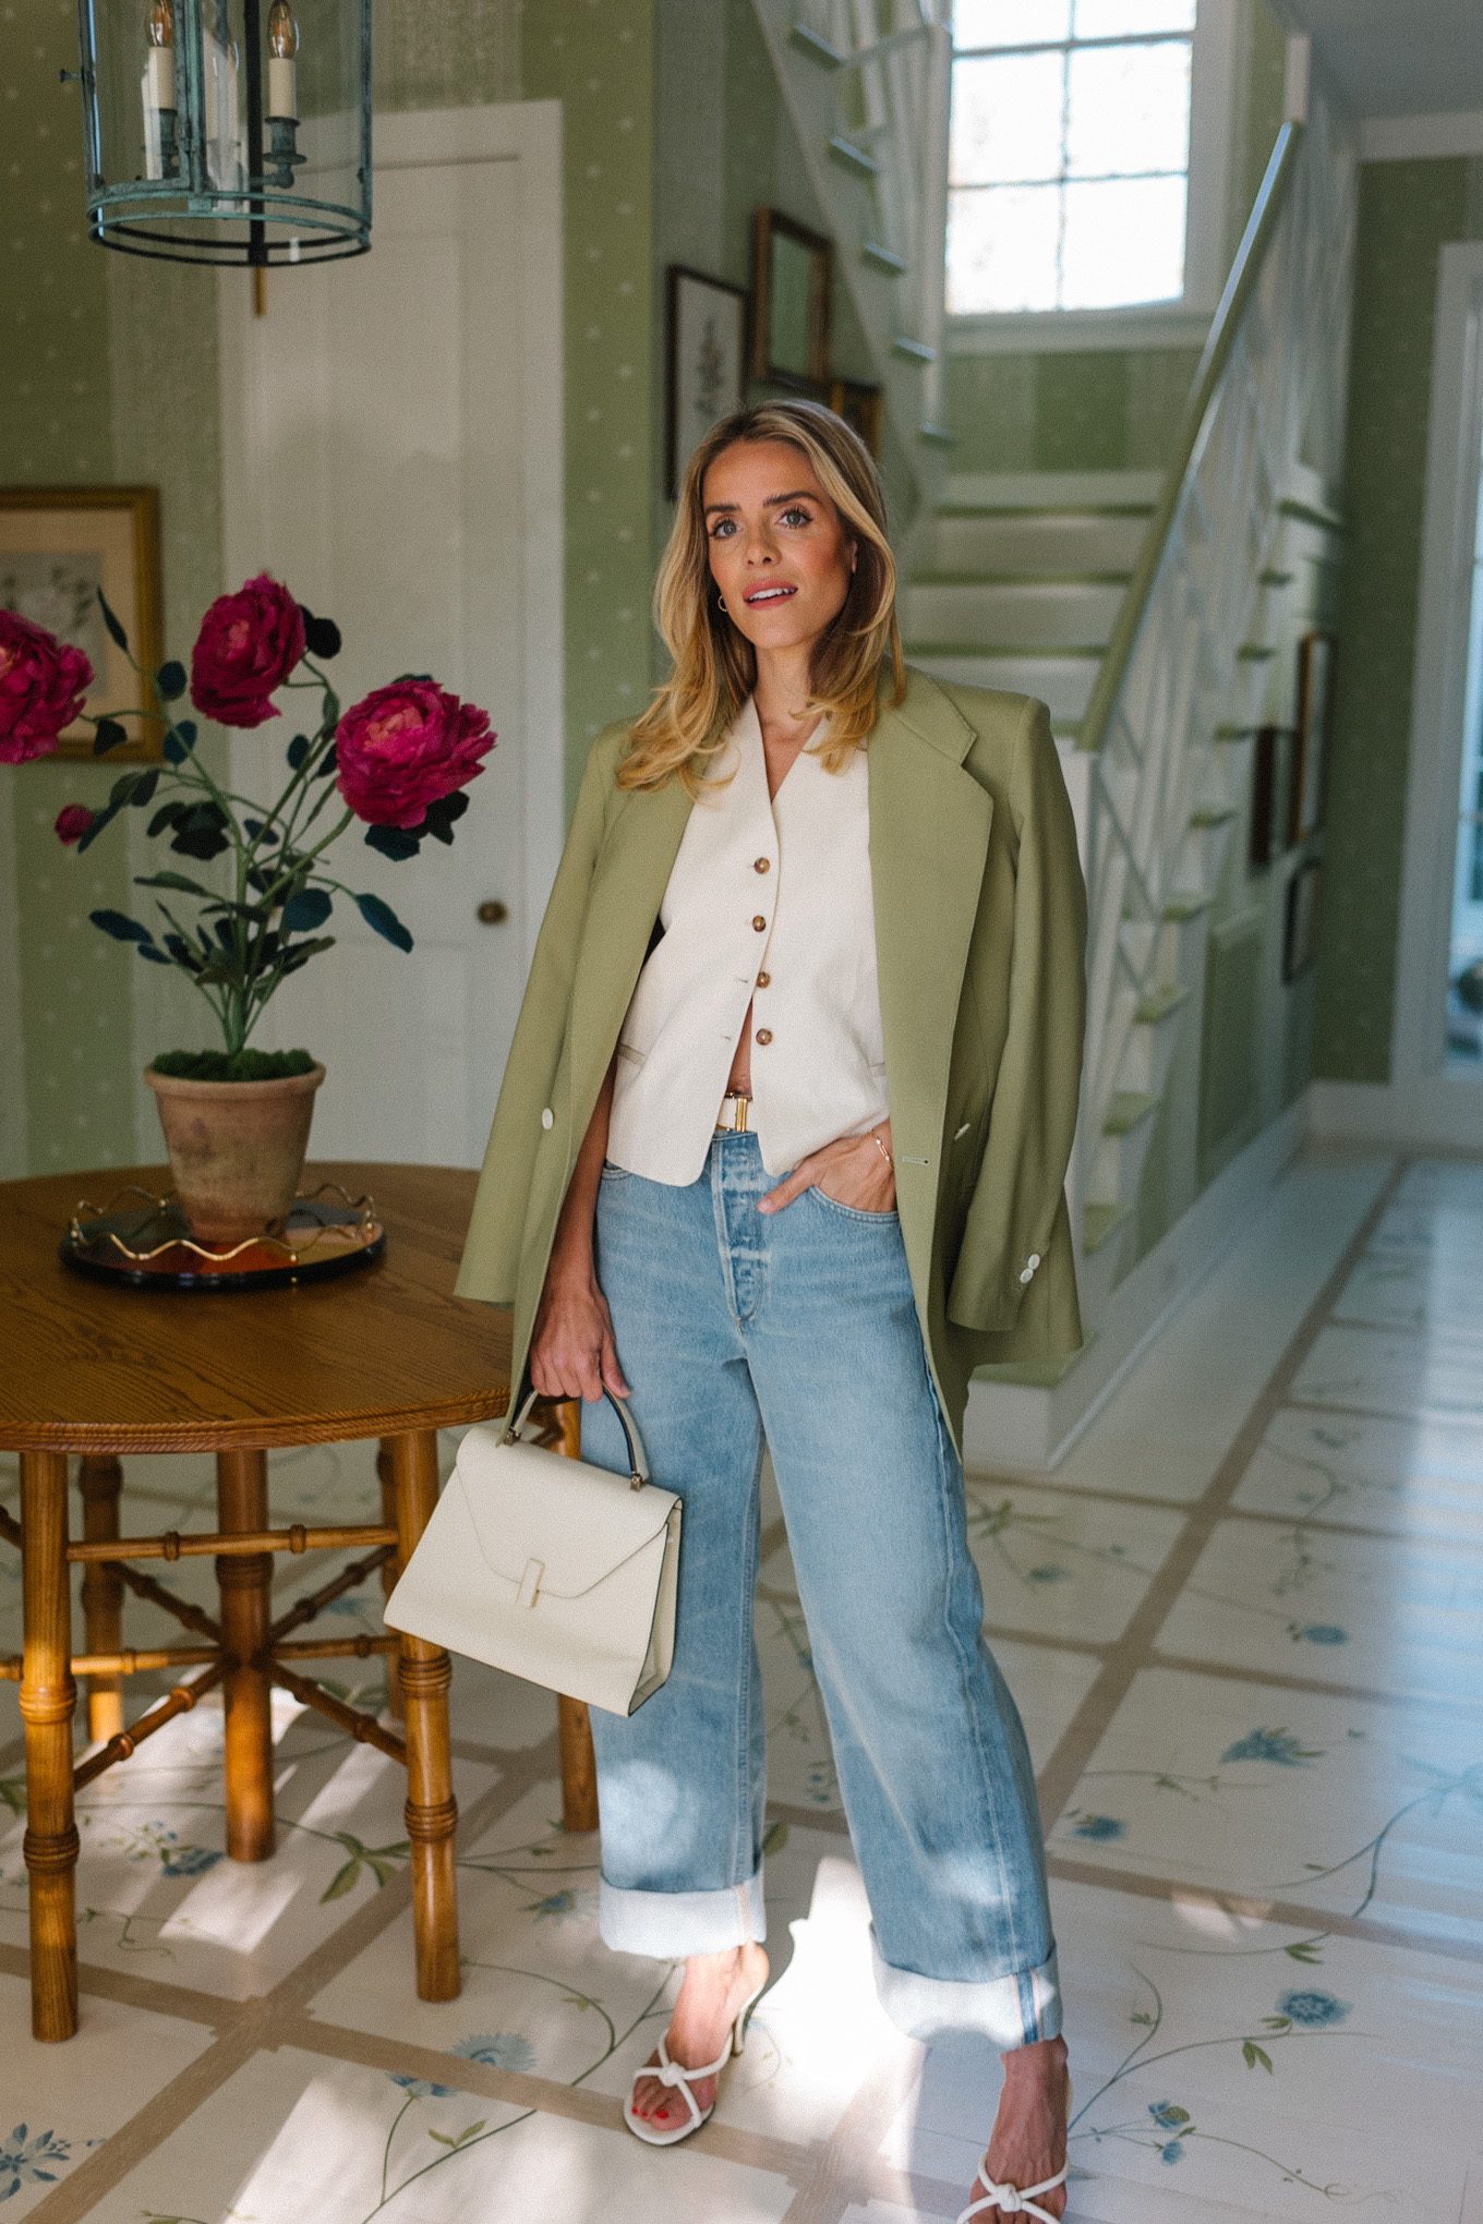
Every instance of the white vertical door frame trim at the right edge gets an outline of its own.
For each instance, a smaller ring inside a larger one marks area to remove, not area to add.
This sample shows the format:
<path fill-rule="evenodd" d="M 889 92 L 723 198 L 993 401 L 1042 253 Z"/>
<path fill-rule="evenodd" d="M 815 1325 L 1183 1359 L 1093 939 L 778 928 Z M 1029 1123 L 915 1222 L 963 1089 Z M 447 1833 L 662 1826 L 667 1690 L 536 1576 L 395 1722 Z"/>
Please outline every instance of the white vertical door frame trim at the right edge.
<path fill-rule="evenodd" d="M 1447 1079 L 1443 983 L 1452 925 L 1472 547 L 1483 445 L 1483 242 L 1441 251 L 1405 781 L 1401 934 L 1390 1072 Z M 1483 1083 L 1474 1079 L 1483 1108 Z"/>

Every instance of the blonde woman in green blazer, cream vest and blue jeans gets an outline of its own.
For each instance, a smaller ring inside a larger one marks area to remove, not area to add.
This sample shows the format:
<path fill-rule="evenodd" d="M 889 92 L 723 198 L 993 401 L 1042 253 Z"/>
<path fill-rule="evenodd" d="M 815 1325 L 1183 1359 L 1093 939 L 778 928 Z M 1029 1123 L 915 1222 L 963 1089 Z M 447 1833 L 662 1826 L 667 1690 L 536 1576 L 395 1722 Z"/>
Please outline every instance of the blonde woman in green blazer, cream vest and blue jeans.
<path fill-rule="evenodd" d="M 1085 892 L 1045 705 L 909 672 L 894 596 L 840 418 L 714 427 L 658 574 L 674 672 L 594 743 L 458 1292 L 514 1303 L 516 1383 L 587 1401 L 585 1457 L 627 1468 L 631 1397 L 685 1501 L 669 1679 L 591 1717 L 603 1937 L 685 1957 L 629 2128 L 698 2128 L 767 1977 L 767 1439 L 880 1999 L 1003 2053 L 965 2215 L 1054 2220 L 1056 1955 L 961 1430 L 976 1366 L 1081 1343 Z"/>

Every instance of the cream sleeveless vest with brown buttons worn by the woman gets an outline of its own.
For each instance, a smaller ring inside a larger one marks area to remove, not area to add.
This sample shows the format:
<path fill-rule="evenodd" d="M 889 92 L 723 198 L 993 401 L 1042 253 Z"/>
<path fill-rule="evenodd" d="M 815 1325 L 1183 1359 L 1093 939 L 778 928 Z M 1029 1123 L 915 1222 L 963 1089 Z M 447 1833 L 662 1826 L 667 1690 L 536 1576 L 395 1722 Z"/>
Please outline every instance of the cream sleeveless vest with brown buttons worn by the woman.
<path fill-rule="evenodd" d="M 698 1179 L 754 994 L 749 1125 L 769 1174 L 887 1116 L 867 796 L 863 752 L 825 772 L 805 747 L 769 798 L 747 696 L 685 821 L 665 932 L 618 1036 L 614 1165 Z"/>

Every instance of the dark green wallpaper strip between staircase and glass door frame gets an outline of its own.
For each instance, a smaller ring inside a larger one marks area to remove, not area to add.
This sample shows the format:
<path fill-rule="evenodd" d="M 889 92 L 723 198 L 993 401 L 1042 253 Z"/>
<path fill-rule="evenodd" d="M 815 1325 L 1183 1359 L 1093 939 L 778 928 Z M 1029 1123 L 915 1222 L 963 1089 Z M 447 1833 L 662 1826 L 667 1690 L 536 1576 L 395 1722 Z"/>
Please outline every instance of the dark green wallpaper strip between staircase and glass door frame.
<path fill-rule="evenodd" d="M 1345 556 L 1314 1072 L 1387 1081 L 1441 249 L 1483 238 L 1483 158 L 1361 169 Z"/>

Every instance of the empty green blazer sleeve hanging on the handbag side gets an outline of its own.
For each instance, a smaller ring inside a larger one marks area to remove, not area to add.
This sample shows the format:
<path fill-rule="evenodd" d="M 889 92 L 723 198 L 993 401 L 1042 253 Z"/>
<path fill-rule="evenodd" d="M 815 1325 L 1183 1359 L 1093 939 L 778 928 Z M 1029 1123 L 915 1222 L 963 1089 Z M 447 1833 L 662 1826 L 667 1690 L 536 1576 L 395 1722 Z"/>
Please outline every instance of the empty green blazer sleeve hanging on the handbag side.
<path fill-rule="evenodd" d="M 534 1141 L 540 1134 L 543 1105 L 551 1101 L 549 1092 L 567 1032 L 587 894 L 614 792 L 614 743 L 623 732 L 625 727 L 605 727 L 587 756 L 494 1108 L 469 1234 L 454 1283 L 456 1297 L 478 1297 L 489 1305 L 509 1305 L 516 1294 Z"/>

